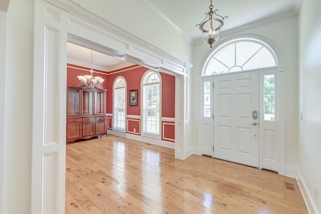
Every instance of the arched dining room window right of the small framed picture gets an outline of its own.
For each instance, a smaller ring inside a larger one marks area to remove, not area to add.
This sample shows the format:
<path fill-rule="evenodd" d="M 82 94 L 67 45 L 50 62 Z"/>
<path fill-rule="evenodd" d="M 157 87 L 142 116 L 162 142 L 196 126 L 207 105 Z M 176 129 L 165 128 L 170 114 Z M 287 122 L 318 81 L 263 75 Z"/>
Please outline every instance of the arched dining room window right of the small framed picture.
<path fill-rule="evenodd" d="M 142 130 L 159 136 L 161 130 L 161 75 L 148 70 L 142 79 Z"/>

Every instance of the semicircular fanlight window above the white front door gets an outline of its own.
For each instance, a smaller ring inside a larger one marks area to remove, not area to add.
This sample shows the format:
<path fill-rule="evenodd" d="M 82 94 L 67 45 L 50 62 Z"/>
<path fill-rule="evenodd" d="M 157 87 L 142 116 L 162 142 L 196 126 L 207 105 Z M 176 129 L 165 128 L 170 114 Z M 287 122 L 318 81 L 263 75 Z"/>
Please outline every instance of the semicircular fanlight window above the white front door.
<path fill-rule="evenodd" d="M 203 75 L 248 71 L 275 67 L 277 58 L 272 48 L 254 38 L 238 38 L 218 46 L 205 62 Z"/>

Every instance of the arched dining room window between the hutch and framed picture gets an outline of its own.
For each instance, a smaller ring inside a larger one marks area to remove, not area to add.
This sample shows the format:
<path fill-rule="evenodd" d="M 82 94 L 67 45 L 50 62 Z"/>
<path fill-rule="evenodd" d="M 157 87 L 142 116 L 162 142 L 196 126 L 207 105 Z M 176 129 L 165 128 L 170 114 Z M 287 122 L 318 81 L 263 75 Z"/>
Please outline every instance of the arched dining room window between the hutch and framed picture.
<path fill-rule="evenodd" d="M 114 102 L 113 102 L 113 119 L 114 129 L 125 131 L 126 119 L 126 82 L 123 77 L 117 77 L 114 81 Z"/>

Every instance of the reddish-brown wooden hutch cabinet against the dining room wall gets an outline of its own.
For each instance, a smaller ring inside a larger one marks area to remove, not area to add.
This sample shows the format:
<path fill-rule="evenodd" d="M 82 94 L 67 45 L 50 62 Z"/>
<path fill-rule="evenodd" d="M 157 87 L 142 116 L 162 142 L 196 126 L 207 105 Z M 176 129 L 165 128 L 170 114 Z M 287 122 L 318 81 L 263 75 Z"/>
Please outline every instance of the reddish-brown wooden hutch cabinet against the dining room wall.
<path fill-rule="evenodd" d="M 106 90 L 67 87 L 67 142 L 107 134 Z"/>

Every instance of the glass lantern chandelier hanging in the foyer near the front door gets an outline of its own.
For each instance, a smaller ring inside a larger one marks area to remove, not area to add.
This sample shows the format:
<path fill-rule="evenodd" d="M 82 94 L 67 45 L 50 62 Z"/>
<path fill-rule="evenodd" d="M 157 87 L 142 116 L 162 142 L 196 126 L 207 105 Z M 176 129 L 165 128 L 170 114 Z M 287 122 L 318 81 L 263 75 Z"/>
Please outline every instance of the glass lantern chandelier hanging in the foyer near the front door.
<path fill-rule="evenodd" d="M 223 21 L 225 18 L 227 19 L 228 16 L 222 17 L 220 15 L 217 15 L 216 14 L 216 12 L 218 11 L 217 9 L 213 12 L 212 0 L 209 8 L 210 8 L 210 12 L 205 13 L 206 17 L 204 18 L 204 20 L 200 24 L 197 24 L 196 26 L 200 27 L 200 31 L 202 32 L 202 36 L 203 36 L 203 41 L 205 43 L 210 44 L 212 48 L 212 44 L 219 39 L 220 30 L 224 24 Z M 212 16 L 214 14 L 218 16 L 218 18 L 213 19 Z M 221 19 L 219 17 L 221 17 Z M 207 18 L 208 20 L 206 20 Z"/>

